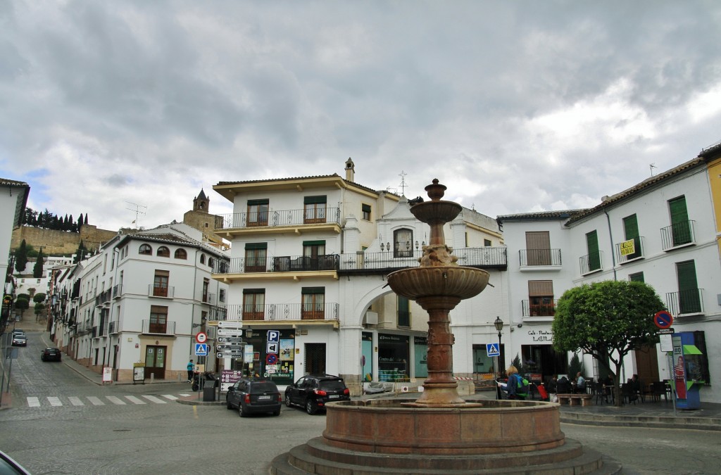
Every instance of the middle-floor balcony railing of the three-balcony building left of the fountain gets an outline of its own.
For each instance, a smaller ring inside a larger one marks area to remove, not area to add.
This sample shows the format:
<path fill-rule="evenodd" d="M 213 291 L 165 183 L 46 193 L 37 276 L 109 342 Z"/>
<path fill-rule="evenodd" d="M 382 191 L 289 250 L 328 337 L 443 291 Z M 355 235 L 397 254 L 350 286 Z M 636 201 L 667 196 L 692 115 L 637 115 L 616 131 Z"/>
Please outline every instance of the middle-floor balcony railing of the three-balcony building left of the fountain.
<path fill-rule="evenodd" d="M 255 257 L 237 257 L 230 262 L 216 262 L 214 274 L 242 274 L 245 272 L 298 272 L 306 270 L 337 270 L 337 254 L 317 257 L 280 256 L 257 259 Z"/>

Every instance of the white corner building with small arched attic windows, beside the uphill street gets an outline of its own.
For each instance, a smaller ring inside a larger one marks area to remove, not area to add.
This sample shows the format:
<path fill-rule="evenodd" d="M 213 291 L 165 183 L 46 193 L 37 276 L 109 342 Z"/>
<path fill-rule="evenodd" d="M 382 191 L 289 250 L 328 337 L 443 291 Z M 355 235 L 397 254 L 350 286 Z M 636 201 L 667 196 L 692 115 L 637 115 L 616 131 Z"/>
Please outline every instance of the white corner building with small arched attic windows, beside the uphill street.
<path fill-rule="evenodd" d="M 118 234 L 99 254 L 58 272 L 53 294 L 53 337 L 71 358 L 113 381 L 186 378 L 195 334 L 211 331 L 211 314 L 228 285 L 211 278 L 226 253 L 183 223 Z M 214 353 L 196 359 L 215 370 Z"/>

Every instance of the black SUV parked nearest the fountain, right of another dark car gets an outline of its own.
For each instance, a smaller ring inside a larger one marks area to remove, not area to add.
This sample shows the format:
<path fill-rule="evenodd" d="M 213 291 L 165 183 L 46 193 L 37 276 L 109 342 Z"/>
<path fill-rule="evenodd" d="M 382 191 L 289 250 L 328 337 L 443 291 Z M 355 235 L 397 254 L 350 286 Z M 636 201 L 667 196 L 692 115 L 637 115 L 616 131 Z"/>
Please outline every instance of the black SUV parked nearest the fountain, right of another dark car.
<path fill-rule="evenodd" d="M 338 376 L 303 376 L 286 388 L 286 406 L 304 407 L 308 414 L 325 410 L 326 403 L 335 401 L 350 401 L 350 391 Z"/>

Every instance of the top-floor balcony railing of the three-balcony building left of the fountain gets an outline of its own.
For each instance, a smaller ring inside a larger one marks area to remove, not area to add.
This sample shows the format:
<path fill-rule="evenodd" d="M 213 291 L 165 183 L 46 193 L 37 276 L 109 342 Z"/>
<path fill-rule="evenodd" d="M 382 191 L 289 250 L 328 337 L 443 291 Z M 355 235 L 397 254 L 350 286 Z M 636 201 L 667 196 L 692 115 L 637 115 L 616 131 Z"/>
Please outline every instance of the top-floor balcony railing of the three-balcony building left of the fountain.
<path fill-rule="evenodd" d="M 314 210 L 270 210 L 267 213 L 231 213 L 218 215 L 223 218 L 221 228 L 265 228 L 295 226 L 298 224 L 340 224 L 340 208 L 315 208 Z"/>

